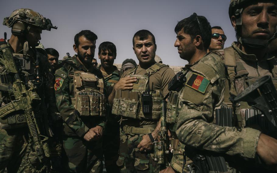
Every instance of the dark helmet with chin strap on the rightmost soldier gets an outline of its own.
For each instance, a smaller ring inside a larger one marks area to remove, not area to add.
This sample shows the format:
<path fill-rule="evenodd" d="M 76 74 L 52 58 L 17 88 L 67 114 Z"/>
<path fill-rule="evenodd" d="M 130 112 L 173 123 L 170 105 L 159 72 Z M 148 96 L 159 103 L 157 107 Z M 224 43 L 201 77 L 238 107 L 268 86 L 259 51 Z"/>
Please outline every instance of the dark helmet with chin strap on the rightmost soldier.
<path fill-rule="evenodd" d="M 247 5 L 247 3 L 254 3 L 254 2 L 258 2 L 259 0 L 231 0 L 230 1 L 230 5 L 229 5 L 229 18 L 232 22 L 231 17 L 235 16 L 236 17 L 236 27 L 237 26 L 241 26 L 242 25 L 242 11 L 243 8 L 245 7 L 245 5 Z M 262 2 L 262 0 L 260 0 Z M 237 30 L 237 28 L 236 28 Z M 261 39 L 253 39 L 253 38 L 240 38 L 240 42 L 244 43 L 252 48 L 265 48 L 268 46 L 268 43 L 270 43 L 272 40 L 277 38 L 277 26 L 276 26 L 276 30 L 275 30 L 275 34 L 273 34 L 273 36 L 265 41 L 265 40 L 261 40 Z"/>

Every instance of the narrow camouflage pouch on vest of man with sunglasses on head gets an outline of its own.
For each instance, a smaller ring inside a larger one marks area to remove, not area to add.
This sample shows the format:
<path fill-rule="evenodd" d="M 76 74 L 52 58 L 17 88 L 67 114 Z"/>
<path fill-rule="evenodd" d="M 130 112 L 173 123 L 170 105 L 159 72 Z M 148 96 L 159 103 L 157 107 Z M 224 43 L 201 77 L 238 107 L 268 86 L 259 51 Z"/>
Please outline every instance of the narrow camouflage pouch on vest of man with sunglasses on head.
<path fill-rule="evenodd" d="M 176 123 L 178 118 L 179 95 L 176 91 L 170 91 L 167 102 L 167 123 Z"/>

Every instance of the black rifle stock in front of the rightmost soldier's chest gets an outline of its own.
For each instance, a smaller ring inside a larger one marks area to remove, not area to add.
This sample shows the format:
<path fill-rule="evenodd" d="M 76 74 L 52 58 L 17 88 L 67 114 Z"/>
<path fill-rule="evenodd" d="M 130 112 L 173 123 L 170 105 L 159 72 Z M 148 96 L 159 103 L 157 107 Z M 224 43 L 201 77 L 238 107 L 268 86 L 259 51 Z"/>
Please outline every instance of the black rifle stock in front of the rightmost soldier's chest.
<path fill-rule="evenodd" d="M 272 125 L 277 124 L 277 91 L 270 76 L 264 76 L 234 98 L 234 102 L 246 101 L 260 110 Z"/>

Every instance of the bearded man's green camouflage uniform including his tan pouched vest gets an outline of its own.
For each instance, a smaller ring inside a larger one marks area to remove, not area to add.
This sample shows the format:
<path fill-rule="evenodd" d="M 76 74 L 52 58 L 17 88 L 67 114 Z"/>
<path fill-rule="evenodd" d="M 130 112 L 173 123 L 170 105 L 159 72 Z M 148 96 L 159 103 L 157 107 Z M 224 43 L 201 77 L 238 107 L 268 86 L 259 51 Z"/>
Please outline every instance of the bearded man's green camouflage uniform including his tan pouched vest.
<path fill-rule="evenodd" d="M 54 85 L 58 110 L 64 121 L 62 162 L 67 172 L 103 169 L 102 140 L 87 142 L 85 133 L 100 125 L 105 127 L 107 95 L 101 72 L 86 69 L 77 55 L 63 61 L 55 72 Z"/>

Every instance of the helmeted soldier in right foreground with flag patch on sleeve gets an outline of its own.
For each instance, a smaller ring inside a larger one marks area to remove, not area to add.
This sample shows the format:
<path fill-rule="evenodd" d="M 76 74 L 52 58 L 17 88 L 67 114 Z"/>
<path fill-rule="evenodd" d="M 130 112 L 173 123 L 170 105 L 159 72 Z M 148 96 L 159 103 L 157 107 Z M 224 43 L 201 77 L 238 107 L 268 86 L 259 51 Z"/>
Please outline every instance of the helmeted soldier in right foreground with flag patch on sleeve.
<path fill-rule="evenodd" d="M 185 72 L 178 101 L 172 106 L 178 107 L 177 137 L 186 145 L 185 156 L 194 161 L 184 168 L 263 172 L 257 167 L 270 165 L 276 171 L 277 140 L 269 136 L 276 134 L 276 126 L 247 102 L 235 104 L 234 100 L 262 76 L 269 75 L 276 83 L 277 63 L 268 56 L 267 44 L 276 36 L 277 4 L 275 0 L 231 0 L 229 15 L 237 42 L 209 52 Z M 175 30 L 177 40 L 182 28 Z"/>

